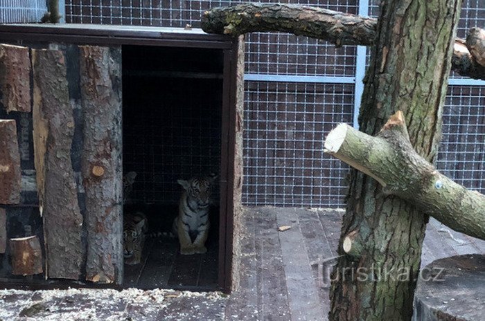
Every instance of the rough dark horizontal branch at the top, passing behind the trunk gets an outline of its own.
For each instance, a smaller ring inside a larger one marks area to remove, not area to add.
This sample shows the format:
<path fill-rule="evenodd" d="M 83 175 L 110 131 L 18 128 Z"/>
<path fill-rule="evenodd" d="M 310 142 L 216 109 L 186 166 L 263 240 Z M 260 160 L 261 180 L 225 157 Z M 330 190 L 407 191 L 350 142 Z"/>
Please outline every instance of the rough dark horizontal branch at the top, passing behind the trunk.
<path fill-rule="evenodd" d="M 213 8 L 202 15 L 202 29 L 206 33 L 237 36 L 256 31 L 283 31 L 323 39 L 337 46 L 371 46 L 376 41 L 377 24 L 377 19 L 369 17 L 276 3 Z M 463 39 L 456 42 L 465 43 Z M 485 80 L 485 68 L 476 62 L 466 46 L 455 50 L 451 64 L 452 70 L 460 75 Z"/>

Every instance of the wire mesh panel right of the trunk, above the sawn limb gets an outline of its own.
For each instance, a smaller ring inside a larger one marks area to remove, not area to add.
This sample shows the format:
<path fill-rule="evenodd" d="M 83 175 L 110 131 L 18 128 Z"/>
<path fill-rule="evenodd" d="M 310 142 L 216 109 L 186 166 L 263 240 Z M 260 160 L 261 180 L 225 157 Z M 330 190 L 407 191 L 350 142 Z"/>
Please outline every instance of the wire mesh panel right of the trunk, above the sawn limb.
<path fill-rule="evenodd" d="M 436 167 L 485 193 L 485 87 L 450 86 L 443 110 L 443 139 Z"/>

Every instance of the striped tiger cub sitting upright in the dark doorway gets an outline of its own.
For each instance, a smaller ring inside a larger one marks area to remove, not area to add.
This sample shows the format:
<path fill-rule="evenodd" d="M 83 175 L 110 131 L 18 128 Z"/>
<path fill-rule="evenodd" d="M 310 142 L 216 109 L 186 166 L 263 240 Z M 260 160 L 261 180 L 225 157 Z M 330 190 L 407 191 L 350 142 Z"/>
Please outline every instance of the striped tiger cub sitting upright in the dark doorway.
<path fill-rule="evenodd" d="M 184 192 L 179 201 L 179 216 L 173 222 L 173 233 L 179 237 L 180 253 L 183 255 L 207 252 L 205 242 L 210 226 L 209 203 L 217 177 L 210 174 L 177 181 L 184 187 Z"/>

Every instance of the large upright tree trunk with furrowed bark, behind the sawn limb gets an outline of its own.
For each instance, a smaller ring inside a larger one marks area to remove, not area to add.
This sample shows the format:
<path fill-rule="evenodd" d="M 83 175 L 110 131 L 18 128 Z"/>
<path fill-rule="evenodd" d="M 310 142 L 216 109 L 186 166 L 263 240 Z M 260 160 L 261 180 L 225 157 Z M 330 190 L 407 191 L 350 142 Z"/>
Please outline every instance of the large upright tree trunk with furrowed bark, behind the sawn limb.
<path fill-rule="evenodd" d="M 460 6 L 459 0 L 382 2 L 364 80 L 360 130 L 375 136 L 401 110 L 414 149 L 430 163 L 441 136 Z M 330 320 L 411 319 L 426 223 L 427 216 L 413 205 L 385 196 L 376 180 L 352 170 L 339 246 L 343 256 L 330 287 Z M 345 255 L 344 239 L 355 231 L 361 255 Z M 369 278 L 352 277 L 356 268 Z"/>

